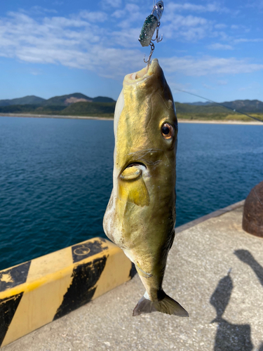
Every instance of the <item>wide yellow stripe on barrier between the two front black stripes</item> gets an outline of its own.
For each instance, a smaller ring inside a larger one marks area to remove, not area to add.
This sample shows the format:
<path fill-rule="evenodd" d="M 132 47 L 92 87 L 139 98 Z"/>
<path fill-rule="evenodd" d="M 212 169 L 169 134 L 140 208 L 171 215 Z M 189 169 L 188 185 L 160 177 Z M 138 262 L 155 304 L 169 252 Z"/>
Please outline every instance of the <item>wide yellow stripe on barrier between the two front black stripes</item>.
<path fill-rule="evenodd" d="M 2 346 L 53 321 L 72 282 L 72 267 L 70 247 L 32 260 L 25 293 Z"/>

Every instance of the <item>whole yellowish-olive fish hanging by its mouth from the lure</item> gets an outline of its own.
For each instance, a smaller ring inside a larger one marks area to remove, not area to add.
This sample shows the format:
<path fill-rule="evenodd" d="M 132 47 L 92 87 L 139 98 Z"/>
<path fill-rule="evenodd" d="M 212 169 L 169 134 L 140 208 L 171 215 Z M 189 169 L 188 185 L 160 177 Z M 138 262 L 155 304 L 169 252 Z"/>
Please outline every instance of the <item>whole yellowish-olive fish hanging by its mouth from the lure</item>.
<path fill-rule="evenodd" d="M 155 58 L 123 80 L 114 112 L 113 189 L 103 218 L 105 234 L 135 264 L 146 290 L 133 316 L 188 316 L 162 288 L 175 237 L 177 129 L 173 95 Z"/>

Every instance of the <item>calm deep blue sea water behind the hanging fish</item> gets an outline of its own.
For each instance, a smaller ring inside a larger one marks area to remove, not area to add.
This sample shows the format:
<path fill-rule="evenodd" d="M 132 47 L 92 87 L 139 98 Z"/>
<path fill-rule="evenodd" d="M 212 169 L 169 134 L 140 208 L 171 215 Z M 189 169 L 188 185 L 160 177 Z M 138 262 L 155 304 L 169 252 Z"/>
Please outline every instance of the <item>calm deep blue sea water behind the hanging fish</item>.
<path fill-rule="evenodd" d="M 0 117 L 0 270 L 104 237 L 113 121 Z M 180 124 L 177 223 L 263 180 L 263 126 Z"/>

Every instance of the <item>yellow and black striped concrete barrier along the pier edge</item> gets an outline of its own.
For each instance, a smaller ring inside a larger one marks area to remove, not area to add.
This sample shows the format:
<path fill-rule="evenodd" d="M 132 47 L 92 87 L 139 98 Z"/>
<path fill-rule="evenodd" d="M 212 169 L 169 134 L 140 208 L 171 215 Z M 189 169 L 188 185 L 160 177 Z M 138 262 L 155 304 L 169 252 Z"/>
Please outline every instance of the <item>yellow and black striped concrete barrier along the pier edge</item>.
<path fill-rule="evenodd" d="M 134 274 L 123 251 L 98 237 L 0 271 L 0 346 L 76 310 Z"/>

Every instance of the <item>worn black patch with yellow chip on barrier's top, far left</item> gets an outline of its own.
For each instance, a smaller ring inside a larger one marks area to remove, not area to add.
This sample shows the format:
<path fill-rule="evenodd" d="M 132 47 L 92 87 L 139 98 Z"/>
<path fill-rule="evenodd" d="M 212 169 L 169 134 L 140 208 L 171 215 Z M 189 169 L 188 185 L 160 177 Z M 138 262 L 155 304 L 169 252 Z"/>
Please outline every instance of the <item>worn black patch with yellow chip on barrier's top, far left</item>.
<path fill-rule="evenodd" d="M 31 261 L 22 263 L 10 270 L 1 270 L 0 272 L 0 291 L 14 288 L 27 281 L 27 274 L 29 271 Z"/>

